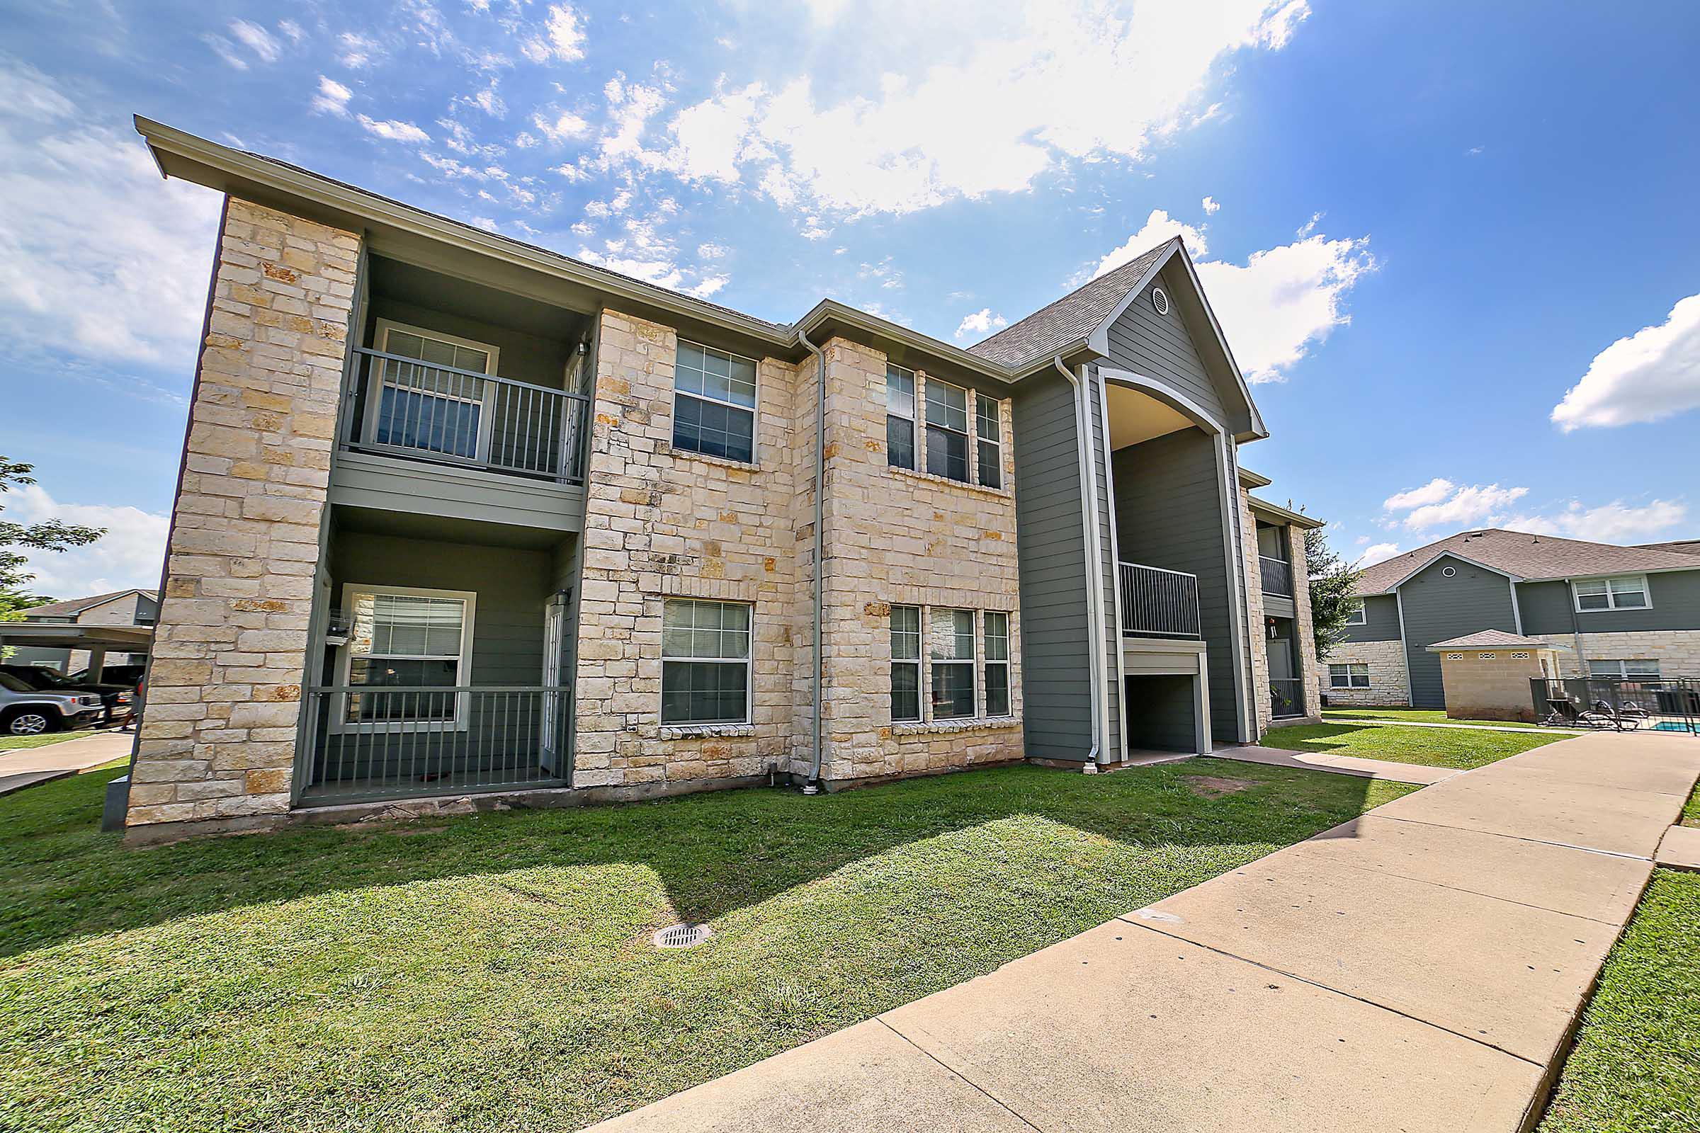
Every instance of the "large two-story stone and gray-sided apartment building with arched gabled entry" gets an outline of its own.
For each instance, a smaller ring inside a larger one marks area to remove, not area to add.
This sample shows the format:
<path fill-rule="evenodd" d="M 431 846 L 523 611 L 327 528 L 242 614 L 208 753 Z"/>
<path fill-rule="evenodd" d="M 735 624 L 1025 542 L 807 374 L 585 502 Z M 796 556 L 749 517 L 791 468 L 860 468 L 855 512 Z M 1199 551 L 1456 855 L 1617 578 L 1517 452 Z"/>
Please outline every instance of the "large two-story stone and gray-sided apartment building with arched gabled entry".
<path fill-rule="evenodd" d="M 138 119 L 226 194 L 133 827 L 1110 768 L 1316 717 L 1180 241 L 962 350 Z"/>

